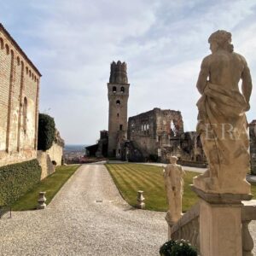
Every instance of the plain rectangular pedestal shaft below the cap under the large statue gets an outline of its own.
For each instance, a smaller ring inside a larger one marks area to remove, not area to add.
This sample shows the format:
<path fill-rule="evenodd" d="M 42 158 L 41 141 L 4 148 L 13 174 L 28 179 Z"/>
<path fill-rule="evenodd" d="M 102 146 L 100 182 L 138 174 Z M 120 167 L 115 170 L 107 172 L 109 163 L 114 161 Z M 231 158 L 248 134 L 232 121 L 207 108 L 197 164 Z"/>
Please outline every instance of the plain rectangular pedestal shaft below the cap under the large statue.
<path fill-rule="evenodd" d="M 201 201 L 200 245 L 204 256 L 241 256 L 241 205 Z"/>

